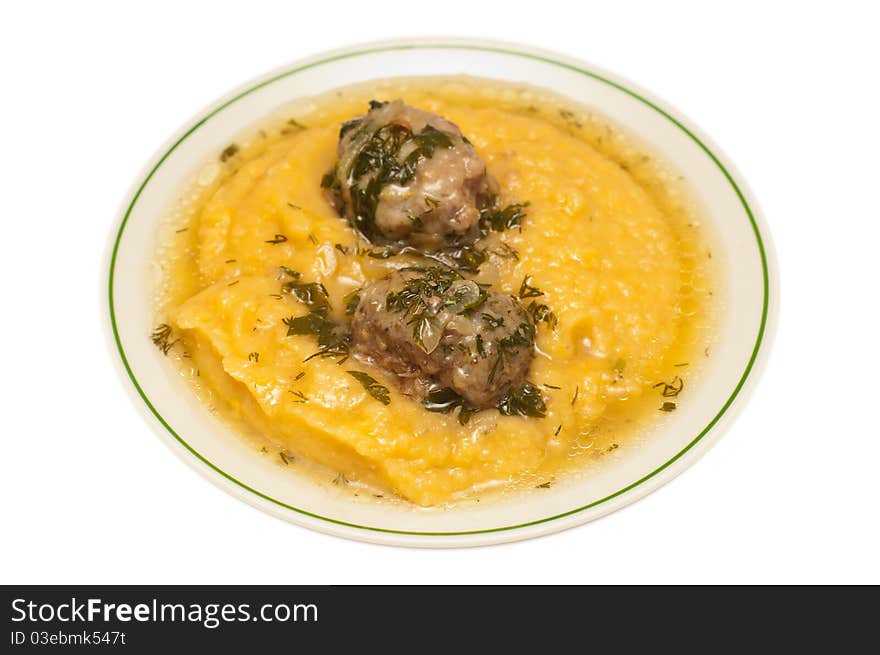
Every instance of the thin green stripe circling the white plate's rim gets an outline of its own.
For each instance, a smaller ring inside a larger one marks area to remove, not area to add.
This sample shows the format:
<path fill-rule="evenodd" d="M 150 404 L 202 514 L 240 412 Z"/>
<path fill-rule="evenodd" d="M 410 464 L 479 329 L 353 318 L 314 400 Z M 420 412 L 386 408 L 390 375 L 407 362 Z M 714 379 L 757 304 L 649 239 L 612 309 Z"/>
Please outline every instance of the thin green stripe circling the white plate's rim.
<path fill-rule="evenodd" d="M 356 523 L 348 523 L 346 521 L 340 521 L 338 519 L 333 519 L 333 518 L 330 518 L 327 516 L 321 516 L 320 514 L 315 514 L 313 512 L 309 512 L 307 510 L 300 509 L 300 508 L 294 507 L 292 505 L 288 505 L 287 503 L 284 503 L 280 500 L 272 498 L 271 496 L 268 496 L 268 495 L 262 493 L 261 491 L 258 491 L 257 489 L 254 489 L 253 487 L 250 487 L 250 486 L 244 484 L 240 480 L 237 480 L 233 476 L 229 475 L 228 473 L 226 473 L 225 471 L 223 471 L 222 469 L 218 468 L 213 463 L 208 461 L 201 453 L 199 453 L 192 446 L 190 446 L 179 434 L 177 434 L 177 432 L 174 431 L 174 428 L 172 428 L 168 424 L 168 422 L 162 417 L 162 415 L 153 406 L 152 402 L 150 402 L 150 399 L 147 397 L 146 393 L 144 393 L 144 390 L 141 388 L 140 383 L 137 381 L 137 378 L 135 377 L 134 372 L 131 370 L 131 366 L 128 363 L 128 358 L 125 356 L 125 350 L 122 347 L 122 342 L 119 337 L 119 331 L 117 330 L 116 311 L 115 311 L 115 304 L 113 301 L 113 280 L 114 280 L 114 272 L 115 272 L 115 268 L 116 268 L 116 256 L 117 256 L 117 253 L 119 250 L 119 243 L 122 240 L 122 234 L 125 231 L 125 226 L 128 223 L 129 216 L 131 215 L 131 212 L 134 209 L 134 206 L 137 203 L 138 198 L 140 198 L 140 195 L 143 192 L 144 188 L 146 188 L 147 184 L 152 179 L 153 175 L 156 173 L 156 171 L 159 169 L 159 167 L 162 166 L 162 164 L 165 162 L 165 160 L 168 159 L 168 157 L 171 155 L 171 153 L 174 152 L 174 150 L 181 143 L 183 143 L 187 138 L 189 138 L 196 130 L 199 129 L 199 127 L 204 125 L 210 118 L 217 115 L 223 109 L 225 109 L 229 105 L 237 102 L 241 98 L 253 93 L 254 91 L 257 91 L 258 89 L 261 89 L 265 86 L 268 86 L 269 84 L 277 82 L 280 79 L 283 79 L 285 77 L 289 77 L 291 75 L 302 72 L 302 71 L 307 70 L 309 68 L 314 68 L 316 66 L 327 64 L 332 61 L 337 61 L 340 59 L 348 59 L 351 57 L 358 57 L 361 55 L 377 53 L 377 52 L 388 52 L 388 51 L 393 51 L 393 50 L 432 49 L 432 48 L 458 49 L 458 50 L 478 50 L 478 51 L 485 51 L 485 52 L 496 52 L 496 53 L 500 53 L 500 54 L 513 55 L 516 57 L 523 57 L 526 59 L 533 59 L 536 61 L 542 61 L 542 62 L 551 64 L 554 66 L 566 68 L 568 70 L 574 71 L 576 73 L 580 73 L 582 75 L 586 75 L 586 76 L 591 77 L 593 79 L 596 79 L 600 82 L 603 82 L 604 84 L 612 86 L 615 89 L 618 89 L 619 91 L 622 91 L 623 93 L 626 93 L 627 95 L 632 96 L 633 98 L 635 98 L 639 102 L 647 105 L 648 107 L 650 107 L 651 109 L 653 109 L 657 113 L 661 114 L 663 117 L 665 117 L 671 123 L 673 123 L 676 127 L 678 127 L 682 132 L 687 134 L 687 136 L 690 137 L 690 139 L 693 140 L 694 143 L 696 143 L 700 147 L 700 149 L 706 153 L 706 155 L 709 156 L 709 158 L 715 163 L 715 165 L 718 166 L 718 169 L 724 174 L 724 177 L 727 179 L 727 181 L 730 182 L 731 187 L 733 187 L 733 190 L 736 192 L 737 197 L 739 198 L 740 202 L 742 203 L 743 208 L 745 209 L 746 215 L 749 217 L 749 222 L 751 223 L 752 231 L 754 232 L 755 239 L 757 241 L 758 251 L 761 256 L 761 267 L 762 267 L 763 277 L 764 277 L 764 279 L 763 279 L 764 299 L 763 299 L 763 306 L 762 306 L 762 310 L 761 310 L 761 322 L 760 322 L 760 325 L 758 328 L 758 336 L 755 341 L 755 347 L 752 350 L 752 354 L 751 354 L 751 357 L 749 358 L 748 364 L 746 365 L 745 370 L 743 371 L 742 377 L 740 378 L 736 387 L 734 387 L 733 392 L 731 393 L 730 397 L 727 399 L 727 401 L 721 407 L 719 412 L 709 422 L 709 424 L 706 425 L 706 427 L 703 428 L 703 430 L 690 443 L 687 444 L 687 446 L 685 446 L 681 451 L 679 451 L 675 456 L 673 456 L 671 459 L 669 459 L 666 463 L 664 463 L 660 467 L 656 468 L 655 470 L 651 471 L 650 473 L 648 473 L 644 477 L 640 478 L 639 480 L 636 480 L 632 484 L 614 492 L 613 494 L 605 496 L 604 498 L 596 500 L 588 505 L 584 505 L 582 507 L 577 507 L 577 508 L 569 510 L 567 512 L 563 512 L 561 514 L 555 514 L 553 516 L 549 516 L 549 517 L 546 517 L 543 519 L 536 519 L 534 521 L 528 521 L 526 523 L 518 523 L 516 525 L 506 525 L 506 526 L 501 526 L 501 527 L 497 527 L 497 528 L 486 528 L 483 530 L 465 530 L 465 531 L 457 531 L 457 532 L 427 532 L 427 531 L 426 532 L 418 532 L 418 531 L 411 531 L 411 530 L 392 530 L 392 529 L 388 529 L 388 528 L 377 528 L 377 527 L 373 527 L 373 526 L 369 526 L 369 525 L 358 525 Z M 153 166 L 153 168 L 150 170 L 150 172 L 144 178 L 143 182 L 138 187 L 137 191 L 135 192 L 134 196 L 132 197 L 131 203 L 128 205 L 128 208 L 125 211 L 125 215 L 122 218 L 122 222 L 119 226 L 119 232 L 117 233 L 116 240 L 113 244 L 113 251 L 111 253 L 111 258 L 110 258 L 110 274 L 109 274 L 109 285 L 108 286 L 109 286 L 108 292 L 109 292 L 109 303 L 110 303 L 110 324 L 111 324 L 111 327 L 113 330 L 113 338 L 116 342 L 116 347 L 119 350 L 119 355 L 122 358 L 122 363 L 123 363 L 123 366 L 125 367 L 125 371 L 128 374 L 128 377 L 131 379 L 132 384 L 134 385 L 135 389 L 138 392 L 138 395 L 141 397 L 141 399 L 143 399 L 147 408 L 156 417 L 156 419 L 159 421 L 159 423 L 161 423 L 162 426 L 168 431 L 169 434 L 171 434 L 181 445 L 183 445 L 189 452 L 191 452 L 201 462 L 203 462 L 205 465 L 207 465 L 208 467 L 210 467 L 211 469 L 213 469 L 214 471 L 216 471 L 217 473 L 222 475 L 224 478 L 226 478 L 230 482 L 235 483 L 236 485 L 238 485 L 242 489 L 245 489 L 246 491 L 248 491 L 256 496 L 259 496 L 260 498 L 263 498 L 264 500 L 268 500 L 268 501 L 270 501 L 280 507 L 297 512 L 298 514 L 302 514 L 304 516 L 308 516 L 308 517 L 311 517 L 314 519 L 319 519 L 321 521 L 326 521 L 328 523 L 333 523 L 336 525 L 342 525 L 342 526 L 346 526 L 346 527 L 350 527 L 350 528 L 358 528 L 361 530 L 369 530 L 372 532 L 384 532 L 384 533 L 391 533 L 391 534 L 403 534 L 403 535 L 414 535 L 414 536 L 437 536 L 437 537 L 486 534 L 486 533 L 490 533 L 490 532 L 502 532 L 502 531 L 507 531 L 507 530 L 516 530 L 519 528 L 525 528 L 525 527 L 529 527 L 529 526 L 533 526 L 533 525 L 538 525 L 541 523 L 547 523 L 549 521 L 555 521 L 555 520 L 564 518 L 566 516 L 571 516 L 573 514 L 577 514 L 578 512 L 583 512 L 584 510 L 590 509 L 592 507 L 596 507 L 597 505 L 601 505 L 602 503 L 608 502 L 609 500 L 611 500 L 613 498 L 616 498 L 622 494 L 625 494 L 626 492 L 638 487 L 642 483 L 646 482 L 647 480 L 650 480 L 651 478 L 656 476 L 658 473 L 660 473 L 664 469 L 671 466 L 674 462 L 676 462 L 678 459 L 680 459 L 686 452 L 688 452 L 691 448 L 693 448 L 715 426 L 715 424 L 718 423 L 718 421 L 725 414 L 725 412 L 727 412 L 728 408 L 731 406 L 731 404 L 733 404 L 733 401 L 736 399 L 736 397 L 739 395 L 740 391 L 742 390 L 743 385 L 745 384 L 746 380 L 748 379 L 749 373 L 751 372 L 752 367 L 754 366 L 755 360 L 757 359 L 758 352 L 760 351 L 761 343 L 764 338 L 764 331 L 765 331 L 765 328 L 767 325 L 767 313 L 768 313 L 768 308 L 769 308 L 769 294 L 770 294 L 770 281 L 769 281 L 769 273 L 767 270 L 767 254 L 764 249 L 764 242 L 761 238 L 761 233 L 760 233 L 760 230 L 758 229 L 758 224 L 755 220 L 755 217 L 752 214 L 752 210 L 749 207 L 748 202 L 746 202 L 745 196 L 743 195 L 739 186 L 734 181 L 733 177 L 730 175 L 730 173 L 727 171 L 727 169 L 724 167 L 724 165 L 721 163 L 721 161 L 719 161 L 719 159 L 715 156 L 715 154 L 711 150 L 709 150 L 709 148 L 702 141 L 700 141 L 700 139 L 697 138 L 697 136 L 695 134 L 693 134 L 687 127 L 685 127 L 678 120 L 676 120 L 676 118 L 674 116 L 671 116 L 669 113 L 667 113 L 662 108 L 655 105 L 650 100 L 642 97 L 638 93 L 626 88 L 625 86 L 622 86 L 621 84 L 618 84 L 617 82 L 614 82 L 612 80 L 606 79 L 605 77 L 602 77 L 601 75 L 599 75 L 597 73 L 593 73 L 591 71 L 584 70 L 584 69 L 579 68 L 577 66 L 574 66 L 572 64 L 556 61 L 555 59 L 551 59 L 549 57 L 544 57 L 541 55 L 519 52 L 516 50 L 510 50 L 510 49 L 506 49 L 506 48 L 454 44 L 454 43 L 453 44 L 423 43 L 423 44 L 381 46 L 381 47 L 375 47 L 375 48 L 367 48 L 367 49 L 359 50 L 356 52 L 346 52 L 346 53 L 334 55 L 332 57 L 328 57 L 326 59 L 321 59 L 319 61 L 314 61 L 309 64 L 305 64 L 303 66 L 284 71 L 284 72 L 279 73 L 277 75 L 274 75 L 274 76 L 272 76 L 272 77 L 270 77 L 270 78 L 268 78 L 258 84 L 255 84 L 254 86 L 242 91 L 241 93 L 239 93 L 239 94 L 235 95 L 234 97 L 232 97 L 231 99 L 227 100 L 226 102 L 224 102 L 223 104 L 221 104 L 220 106 L 218 106 L 217 108 L 212 110 L 210 113 L 208 113 L 207 115 L 205 115 L 204 117 L 202 117 L 201 119 L 196 121 L 192 125 L 192 127 L 190 127 L 186 132 L 184 132 L 184 134 L 177 141 L 175 141 L 171 145 L 171 147 L 168 148 L 168 150 L 159 158 L 159 161 L 156 163 L 155 166 Z"/>

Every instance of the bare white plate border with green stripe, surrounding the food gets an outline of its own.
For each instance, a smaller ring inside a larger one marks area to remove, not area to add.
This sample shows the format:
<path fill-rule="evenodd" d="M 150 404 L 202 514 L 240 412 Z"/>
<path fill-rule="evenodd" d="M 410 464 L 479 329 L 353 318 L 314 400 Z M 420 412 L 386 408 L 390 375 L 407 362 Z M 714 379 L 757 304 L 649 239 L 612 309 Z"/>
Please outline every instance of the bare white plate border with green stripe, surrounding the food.
<path fill-rule="evenodd" d="M 372 78 L 454 75 L 543 87 L 594 107 L 643 139 L 691 182 L 726 257 L 725 319 L 702 382 L 647 444 L 595 475 L 484 506 L 420 509 L 353 499 L 291 474 L 234 434 L 150 343 L 149 274 L 157 224 L 200 165 L 230 138 L 296 98 Z M 519 45 L 459 39 L 372 43 L 298 61 L 236 89 L 188 121 L 132 187 L 108 246 L 111 347 L 135 403 L 171 448 L 222 489 L 315 530 L 408 546 L 474 546 L 585 523 L 668 482 L 730 425 L 766 359 L 777 307 L 767 229 L 742 178 L 699 129 L 667 103 L 616 75 Z"/>

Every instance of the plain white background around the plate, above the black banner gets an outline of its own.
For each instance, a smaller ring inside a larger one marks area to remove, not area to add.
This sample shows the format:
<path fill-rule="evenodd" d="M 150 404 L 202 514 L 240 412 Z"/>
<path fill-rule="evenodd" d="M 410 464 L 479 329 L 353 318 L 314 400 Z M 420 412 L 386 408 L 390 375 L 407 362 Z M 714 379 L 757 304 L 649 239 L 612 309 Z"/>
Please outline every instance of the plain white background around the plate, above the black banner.
<path fill-rule="evenodd" d="M 880 16 L 710 4 L 4 3 L 0 582 L 880 582 Z M 766 214 L 782 307 L 756 394 L 692 469 L 598 522 L 459 551 L 309 532 L 196 475 L 111 366 L 105 241 L 158 145 L 291 59 L 414 35 L 521 41 L 647 87 Z"/>

